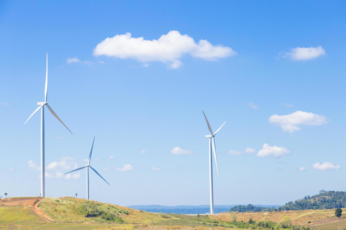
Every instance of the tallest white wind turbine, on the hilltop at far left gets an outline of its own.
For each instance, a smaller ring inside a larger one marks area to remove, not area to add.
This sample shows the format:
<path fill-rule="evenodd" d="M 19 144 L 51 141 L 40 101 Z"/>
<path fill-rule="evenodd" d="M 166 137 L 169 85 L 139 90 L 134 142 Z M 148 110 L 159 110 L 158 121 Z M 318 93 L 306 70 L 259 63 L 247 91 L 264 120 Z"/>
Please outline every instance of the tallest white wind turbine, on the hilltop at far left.
<path fill-rule="evenodd" d="M 64 126 L 64 122 L 60 120 L 60 118 L 56 115 L 56 113 L 52 110 L 50 106 L 48 106 L 47 102 L 47 90 L 48 90 L 48 53 L 47 53 L 47 64 L 46 64 L 46 83 L 44 87 L 44 102 L 37 102 L 37 109 L 30 115 L 32 117 L 34 113 L 36 113 L 39 109 L 41 109 L 41 197 L 45 197 L 45 164 L 44 164 L 44 106 L 47 106 L 49 111 L 56 117 Z M 28 120 L 30 119 L 28 118 Z M 26 120 L 26 122 L 28 122 Z M 26 122 L 24 124 L 26 124 Z M 65 126 L 66 127 L 66 126 Z M 69 128 L 66 127 L 67 130 Z M 69 130 L 71 132 L 71 130 Z M 72 133 L 72 132 L 71 132 Z M 72 133 L 73 134 L 73 133 Z"/>

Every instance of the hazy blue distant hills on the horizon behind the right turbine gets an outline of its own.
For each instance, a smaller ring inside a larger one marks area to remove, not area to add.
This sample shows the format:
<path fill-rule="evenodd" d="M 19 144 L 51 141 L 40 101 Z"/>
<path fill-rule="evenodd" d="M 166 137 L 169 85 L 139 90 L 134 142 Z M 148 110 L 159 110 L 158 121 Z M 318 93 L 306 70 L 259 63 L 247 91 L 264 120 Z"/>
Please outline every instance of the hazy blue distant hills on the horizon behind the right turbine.
<path fill-rule="evenodd" d="M 235 204 L 231 205 L 214 205 L 214 212 L 227 212 L 232 207 L 235 207 Z M 265 205 L 265 204 L 256 204 L 256 206 L 261 207 L 280 207 L 280 205 Z M 129 208 L 143 210 L 147 212 L 161 212 L 161 213 L 175 213 L 175 214 L 201 214 L 210 212 L 210 205 L 178 205 L 178 206 L 164 206 L 164 205 L 132 205 L 128 206 Z"/>

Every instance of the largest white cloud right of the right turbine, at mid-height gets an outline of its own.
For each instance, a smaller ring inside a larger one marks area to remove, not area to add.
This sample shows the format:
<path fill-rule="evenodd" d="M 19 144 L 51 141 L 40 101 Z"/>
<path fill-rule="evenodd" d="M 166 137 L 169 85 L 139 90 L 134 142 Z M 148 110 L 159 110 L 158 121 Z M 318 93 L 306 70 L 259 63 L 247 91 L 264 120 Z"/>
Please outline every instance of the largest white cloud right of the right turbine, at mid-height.
<path fill-rule="evenodd" d="M 299 124 L 318 126 L 328 122 L 327 118 L 322 115 L 303 111 L 295 111 L 294 113 L 281 116 L 274 114 L 269 117 L 268 121 L 280 126 L 284 132 L 294 132 L 300 130 L 301 128 L 298 126 Z"/>

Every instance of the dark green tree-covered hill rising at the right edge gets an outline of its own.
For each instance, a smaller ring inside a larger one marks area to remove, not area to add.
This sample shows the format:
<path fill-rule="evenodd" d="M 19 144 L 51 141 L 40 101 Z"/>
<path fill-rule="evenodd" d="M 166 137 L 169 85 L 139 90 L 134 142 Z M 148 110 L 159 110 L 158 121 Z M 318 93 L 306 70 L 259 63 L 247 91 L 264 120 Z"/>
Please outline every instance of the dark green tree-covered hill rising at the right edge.
<path fill-rule="evenodd" d="M 319 194 L 306 196 L 296 201 L 290 201 L 280 207 L 261 207 L 248 205 L 238 205 L 231 207 L 229 212 L 259 212 L 259 211 L 289 211 L 308 209 L 335 209 L 346 207 L 346 192 L 320 190 Z"/>

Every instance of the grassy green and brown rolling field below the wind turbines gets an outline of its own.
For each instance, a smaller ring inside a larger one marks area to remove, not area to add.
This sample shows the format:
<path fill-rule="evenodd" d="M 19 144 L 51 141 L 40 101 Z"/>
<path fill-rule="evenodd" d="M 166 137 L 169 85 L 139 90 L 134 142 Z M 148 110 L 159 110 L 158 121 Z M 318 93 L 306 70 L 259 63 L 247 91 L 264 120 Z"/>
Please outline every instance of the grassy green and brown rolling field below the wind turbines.
<path fill-rule="evenodd" d="M 220 213 L 197 218 L 196 215 L 149 213 L 72 197 L 0 201 L 1 229 L 238 229 L 232 223 L 234 216 L 240 224 L 249 218 L 280 222 L 288 216 L 292 224 L 299 226 L 346 229 L 346 215 L 337 218 L 334 210 Z"/>

